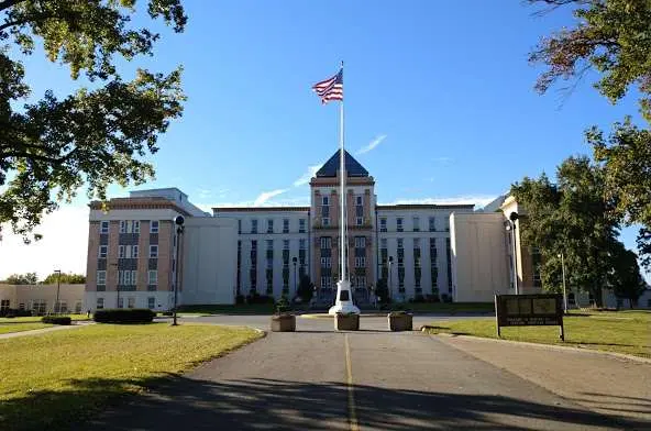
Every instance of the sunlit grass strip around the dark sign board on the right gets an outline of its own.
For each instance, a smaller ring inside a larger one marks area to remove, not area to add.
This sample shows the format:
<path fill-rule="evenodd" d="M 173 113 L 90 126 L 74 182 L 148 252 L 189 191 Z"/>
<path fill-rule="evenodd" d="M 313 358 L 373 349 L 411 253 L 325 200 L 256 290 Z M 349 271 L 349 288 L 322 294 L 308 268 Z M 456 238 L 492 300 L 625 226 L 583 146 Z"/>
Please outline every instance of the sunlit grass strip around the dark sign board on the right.
<path fill-rule="evenodd" d="M 562 344 L 651 357 L 650 311 L 572 312 L 564 318 L 565 342 L 559 340 L 559 327 L 501 328 L 505 340 Z M 497 338 L 495 320 L 468 319 L 435 321 L 431 333 Z"/>

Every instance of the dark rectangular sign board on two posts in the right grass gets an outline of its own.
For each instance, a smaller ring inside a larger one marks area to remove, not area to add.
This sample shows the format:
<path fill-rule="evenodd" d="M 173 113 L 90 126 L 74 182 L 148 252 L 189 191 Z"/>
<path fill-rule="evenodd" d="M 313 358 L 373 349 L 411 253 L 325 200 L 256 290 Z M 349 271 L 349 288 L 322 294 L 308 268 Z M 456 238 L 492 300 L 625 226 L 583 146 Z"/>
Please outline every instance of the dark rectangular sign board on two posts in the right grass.
<path fill-rule="evenodd" d="M 563 296 L 559 294 L 495 295 L 495 319 L 497 336 L 501 327 L 559 325 L 561 340 L 565 340 Z"/>

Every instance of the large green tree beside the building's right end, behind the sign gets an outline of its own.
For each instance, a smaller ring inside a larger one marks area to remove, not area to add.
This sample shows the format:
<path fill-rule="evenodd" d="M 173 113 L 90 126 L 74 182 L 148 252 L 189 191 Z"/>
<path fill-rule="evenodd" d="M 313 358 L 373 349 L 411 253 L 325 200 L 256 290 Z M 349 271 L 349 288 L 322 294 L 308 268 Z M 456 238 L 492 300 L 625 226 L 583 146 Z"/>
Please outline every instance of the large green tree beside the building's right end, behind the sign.
<path fill-rule="evenodd" d="M 522 242 L 540 250 L 541 278 L 548 290 L 562 286 L 563 252 L 570 286 L 589 291 L 600 302 L 602 287 L 613 268 L 611 250 L 617 241 L 617 221 L 608 218 L 611 203 L 604 199 L 604 174 L 587 157 L 570 157 L 556 172 L 558 184 L 545 175 L 525 178 L 511 192 L 522 205 Z"/>

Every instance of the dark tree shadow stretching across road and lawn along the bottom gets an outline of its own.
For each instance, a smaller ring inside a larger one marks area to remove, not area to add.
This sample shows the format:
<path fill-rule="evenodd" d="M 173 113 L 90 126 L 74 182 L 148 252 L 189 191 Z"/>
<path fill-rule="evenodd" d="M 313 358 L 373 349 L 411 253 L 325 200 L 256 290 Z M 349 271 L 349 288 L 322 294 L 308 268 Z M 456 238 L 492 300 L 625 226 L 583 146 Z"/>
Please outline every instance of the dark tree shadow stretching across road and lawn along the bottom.
<path fill-rule="evenodd" d="M 209 382 L 168 375 L 145 380 L 70 380 L 0 404 L 2 430 L 241 430 L 347 429 L 347 387 L 267 378 Z M 125 399 L 125 390 L 151 388 Z M 362 428 L 559 430 L 574 427 L 648 429 L 651 422 L 614 418 L 503 395 L 471 395 L 369 385 L 354 386 Z M 131 402 L 124 402 L 130 400 Z M 108 408 L 107 408 L 108 406 Z M 103 411 L 103 412 L 100 412 Z"/>

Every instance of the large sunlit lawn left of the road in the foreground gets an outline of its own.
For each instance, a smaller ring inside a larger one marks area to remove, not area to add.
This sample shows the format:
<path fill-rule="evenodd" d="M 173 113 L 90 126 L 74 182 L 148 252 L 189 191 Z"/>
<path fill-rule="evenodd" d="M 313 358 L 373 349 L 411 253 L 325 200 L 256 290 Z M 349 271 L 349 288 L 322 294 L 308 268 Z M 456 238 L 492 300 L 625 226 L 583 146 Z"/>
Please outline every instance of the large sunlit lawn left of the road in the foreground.
<path fill-rule="evenodd" d="M 121 395 L 260 338 L 247 328 L 95 324 L 0 340 L 0 430 L 65 430 Z"/>

